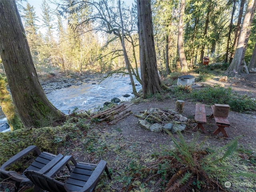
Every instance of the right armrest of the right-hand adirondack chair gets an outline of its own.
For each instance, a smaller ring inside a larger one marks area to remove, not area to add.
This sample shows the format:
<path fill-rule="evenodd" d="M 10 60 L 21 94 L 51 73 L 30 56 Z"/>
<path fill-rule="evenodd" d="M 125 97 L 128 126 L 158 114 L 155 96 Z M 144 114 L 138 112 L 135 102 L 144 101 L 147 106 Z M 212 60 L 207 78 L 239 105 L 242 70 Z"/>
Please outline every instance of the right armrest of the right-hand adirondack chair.
<path fill-rule="evenodd" d="M 84 192 L 90 188 L 94 188 L 94 186 L 97 184 L 98 180 L 100 179 L 101 174 L 105 170 L 106 166 L 107 166 L 107 162 L 104 160 L 100 160 L 99 164 L 93 171 L 92 175 L 90 176 L 90 178 L 88 179 L 84 187 L 78 192 Z M 64 184 L 64 188 L 66 189 L 65 184 Z"/>

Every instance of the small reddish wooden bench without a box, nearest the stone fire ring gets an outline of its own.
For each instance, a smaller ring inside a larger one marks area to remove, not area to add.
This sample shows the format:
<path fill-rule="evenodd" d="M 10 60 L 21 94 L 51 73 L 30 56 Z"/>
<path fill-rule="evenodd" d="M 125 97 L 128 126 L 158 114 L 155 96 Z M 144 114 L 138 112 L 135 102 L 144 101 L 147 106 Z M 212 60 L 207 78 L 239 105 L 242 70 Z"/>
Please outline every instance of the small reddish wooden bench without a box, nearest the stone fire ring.
<path fill-rule="evenodd" d="M 197 121 L 197 125 L 194 127 L 193 131 L 196 131 L 198 128 L 207 134 L 207 131 L 204 129 L 203 124 L 206 123 L 206 114 L 205 114 L 205 106 L 204 104 L 196 104 L 196 112 L 195 112 L 195 120 Z"/>

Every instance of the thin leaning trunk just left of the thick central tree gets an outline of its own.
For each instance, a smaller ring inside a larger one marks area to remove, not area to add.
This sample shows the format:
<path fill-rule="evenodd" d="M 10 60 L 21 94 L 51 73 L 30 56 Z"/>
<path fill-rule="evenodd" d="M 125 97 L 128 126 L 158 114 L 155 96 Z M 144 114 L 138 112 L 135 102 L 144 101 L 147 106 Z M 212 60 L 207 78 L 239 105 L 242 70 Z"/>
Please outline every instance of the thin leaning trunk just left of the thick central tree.
<path fill-rule="evenodd" d="M 135 87 L 135 84 L 134 84 L 134 80 L 133 80 L 132 72 L 131 72 L 131 68 L 130 68 L 130 66 L 131 66 L 130 60 L 128 58 L 128 55 L 127 55 L 127 52 L 126 52 L 126 48 L 125 48 L 125 45 L 124 45 L 124 23 L 123 23 L 123 18 L 122 18 L 120 0 L 118 0 L 118 8 L 119 8 L 119 14 L 120 14 L 120 20 L 121 20 L 121 26 L 122 26 L 121 42 L 122 42 L 123 53 L 124 53 L 124 62 L 126 64 L 126 68 L 128 70 L 129 76 L 130 76 L 133 94 L 134 94 L 134 96 L 138 97 L 139 94 L 136 91 L 136 87 Z"/>

